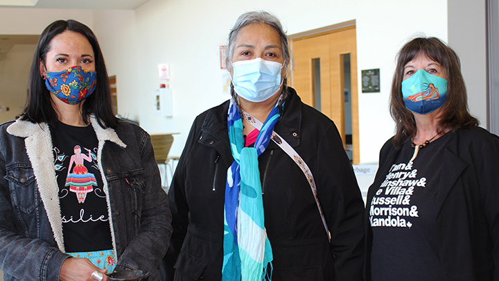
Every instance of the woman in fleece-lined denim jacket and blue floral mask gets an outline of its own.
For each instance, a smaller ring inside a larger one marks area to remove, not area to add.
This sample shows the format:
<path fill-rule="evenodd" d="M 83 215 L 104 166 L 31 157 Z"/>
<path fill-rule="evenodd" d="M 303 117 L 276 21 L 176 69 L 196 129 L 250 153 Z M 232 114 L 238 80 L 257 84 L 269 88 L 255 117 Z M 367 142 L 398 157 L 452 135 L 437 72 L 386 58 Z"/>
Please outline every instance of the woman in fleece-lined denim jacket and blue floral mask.
<path fill-rule="evenodd" d="M 92 31 L 50 24 L 30 70 L 26 108 L 0 126 L 4 280 L 158 280 L 171 216 L 149 135 L 112 114 Z"/>

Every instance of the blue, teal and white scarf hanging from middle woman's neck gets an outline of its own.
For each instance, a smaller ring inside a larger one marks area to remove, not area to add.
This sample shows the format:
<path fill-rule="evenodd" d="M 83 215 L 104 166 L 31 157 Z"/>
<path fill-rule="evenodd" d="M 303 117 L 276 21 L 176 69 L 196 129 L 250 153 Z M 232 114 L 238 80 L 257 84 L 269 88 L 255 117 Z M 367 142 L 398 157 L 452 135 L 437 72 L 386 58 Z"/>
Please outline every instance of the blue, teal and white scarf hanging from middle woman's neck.
<path fill-rule="evenodd" d="M 244 147 L 243 121 L 231 99 L 227 126 L 234 162 L 227 170 L 225 184 L 222 281 L 259 281 L 265 276 L 271 279 L 267 266 L 273 257 L 265 231 L 258 157 L 267 148 L 279 121 L 278 104 L 265 120 L 254 147 Z"/>

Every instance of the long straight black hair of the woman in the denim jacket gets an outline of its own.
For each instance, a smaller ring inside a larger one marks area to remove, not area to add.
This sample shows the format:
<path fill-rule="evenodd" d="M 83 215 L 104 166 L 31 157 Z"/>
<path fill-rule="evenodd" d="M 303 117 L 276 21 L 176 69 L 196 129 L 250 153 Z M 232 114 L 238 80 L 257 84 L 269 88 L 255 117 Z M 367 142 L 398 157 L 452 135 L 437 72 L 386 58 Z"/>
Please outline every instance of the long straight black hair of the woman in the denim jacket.
<path fill-rule="evenodd" d="M 105 67 L 104 58 L 100 46 L 94 33 L 80 22 L 74 20 L 58 20 L 45 28 L 40 39 L 38 40 L 33 63 L 31 64 L 30 75 L 28 80 L 28 98 L 26 107 L 21 114 L 21 120 L 31 121 L 33 123 L 47 123 L 50 126 L 55 126 L 58 121 L 58 114 L 54 109 L 54 104 L 51 99 L 51 93 L 45 86 L 45 80 L 40 73 L 40 63 L 45 64 L 46 53 L 52 46 L 51 40 L 55 35 L 64 31 L 73 31 L 85 36 L 89 41 L 92 49 L 94 49 L 94 61 L 97 73 L 96 89 L 91 94 L 85 103 L 82 105 L 82 120 L 85 124 L 89 122 L 89 115 L 94 114 L 98 123 L 103 128 L 116 128 L 118 120 L 112 113 L 111 90 L 109 78 L 107 77 L 107 69 Z"/>

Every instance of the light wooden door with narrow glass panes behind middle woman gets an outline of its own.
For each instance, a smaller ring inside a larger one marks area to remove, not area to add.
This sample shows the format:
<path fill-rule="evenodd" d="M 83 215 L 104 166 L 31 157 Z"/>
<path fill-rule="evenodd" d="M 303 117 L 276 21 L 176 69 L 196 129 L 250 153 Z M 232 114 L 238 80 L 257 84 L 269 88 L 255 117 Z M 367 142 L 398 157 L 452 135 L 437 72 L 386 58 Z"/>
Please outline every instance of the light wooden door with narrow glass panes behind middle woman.
<path fill-rule="evenodd" d="M 360 162 L 355 21 L 290 36 L 291 86 L 331 118 L 353 164 Z"/>

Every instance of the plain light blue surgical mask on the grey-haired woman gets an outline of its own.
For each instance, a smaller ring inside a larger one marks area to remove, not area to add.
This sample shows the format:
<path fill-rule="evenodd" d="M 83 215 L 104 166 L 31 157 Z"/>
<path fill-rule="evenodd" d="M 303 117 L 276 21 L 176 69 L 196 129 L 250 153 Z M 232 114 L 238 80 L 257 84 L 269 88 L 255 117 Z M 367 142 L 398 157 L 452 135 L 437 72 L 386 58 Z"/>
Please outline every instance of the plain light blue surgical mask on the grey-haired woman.
<path fill-rule="evenodd" d="M 232 66 L 232 84 L 241 98 L 259 103 L 279 92 L 281 63 L 255 58 L 234 62 Z"/>

